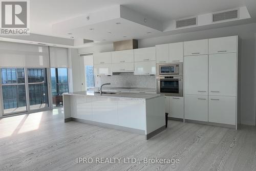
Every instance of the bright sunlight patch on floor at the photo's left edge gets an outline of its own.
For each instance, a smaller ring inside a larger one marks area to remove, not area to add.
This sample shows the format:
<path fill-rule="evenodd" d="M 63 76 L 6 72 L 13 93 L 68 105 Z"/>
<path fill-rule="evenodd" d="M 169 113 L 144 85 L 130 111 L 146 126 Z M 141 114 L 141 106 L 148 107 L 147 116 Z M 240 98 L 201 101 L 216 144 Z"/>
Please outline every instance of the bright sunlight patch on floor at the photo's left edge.
<path fill-rule="evenodd" d="M 11 136 L 17 129 L 20 122 L 25 118 L 25 115 L 3 118 L 0 120 L 1 133 L 0 138 Z"/>

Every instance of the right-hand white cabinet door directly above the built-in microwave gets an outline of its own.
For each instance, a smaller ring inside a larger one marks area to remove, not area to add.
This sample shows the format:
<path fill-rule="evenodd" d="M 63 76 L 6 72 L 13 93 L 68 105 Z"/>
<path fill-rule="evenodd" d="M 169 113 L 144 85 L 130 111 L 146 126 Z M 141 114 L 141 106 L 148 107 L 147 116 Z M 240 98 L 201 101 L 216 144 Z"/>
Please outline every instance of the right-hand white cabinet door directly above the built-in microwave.
<path fill-rule="evenodd" d="M 169 62 L 183 62 L 183 42 L 169 44 Z"/>

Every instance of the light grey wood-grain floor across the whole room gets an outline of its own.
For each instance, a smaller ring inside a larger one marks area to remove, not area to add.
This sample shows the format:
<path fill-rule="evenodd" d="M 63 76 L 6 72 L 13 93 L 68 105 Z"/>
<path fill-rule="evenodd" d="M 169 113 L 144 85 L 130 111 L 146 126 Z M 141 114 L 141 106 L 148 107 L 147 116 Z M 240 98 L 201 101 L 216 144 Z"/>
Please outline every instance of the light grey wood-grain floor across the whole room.
<path fill-rule="evenodd" d="M 180 163 L 78 164 L 77 157 L 175 158 Z M 256 128 L 169 121 L 151 138 L 78 122 L 62 109 L 0 120 L 0 170 L 256 170 Z"/>

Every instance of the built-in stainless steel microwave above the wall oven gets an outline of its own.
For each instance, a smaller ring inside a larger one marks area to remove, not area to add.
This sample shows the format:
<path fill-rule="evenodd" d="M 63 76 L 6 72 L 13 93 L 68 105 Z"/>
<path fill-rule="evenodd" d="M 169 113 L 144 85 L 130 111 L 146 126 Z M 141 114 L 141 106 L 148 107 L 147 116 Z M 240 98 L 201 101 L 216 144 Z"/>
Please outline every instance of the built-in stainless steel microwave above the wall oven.
<path fill-rule="evenodd" d="M 157 64 L 157 76 L 180 75 L 182 76 L 182 62 Z"/>

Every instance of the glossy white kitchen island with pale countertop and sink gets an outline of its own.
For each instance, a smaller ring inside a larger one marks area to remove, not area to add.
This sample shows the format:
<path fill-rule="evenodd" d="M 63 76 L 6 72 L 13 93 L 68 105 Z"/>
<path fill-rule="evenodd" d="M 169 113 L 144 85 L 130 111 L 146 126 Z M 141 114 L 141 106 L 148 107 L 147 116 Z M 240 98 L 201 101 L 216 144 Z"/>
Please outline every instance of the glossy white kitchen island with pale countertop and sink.
<path fill-rule="evenodd" d="M 160 94 L 63 94 L 65 122 L 77 121 L 153 137 L 165 129 L 164 96 Z"/>

